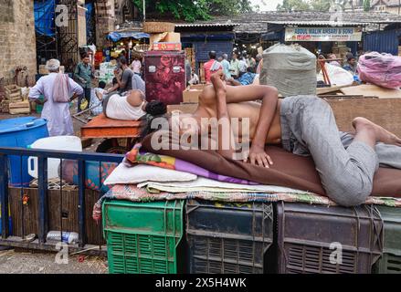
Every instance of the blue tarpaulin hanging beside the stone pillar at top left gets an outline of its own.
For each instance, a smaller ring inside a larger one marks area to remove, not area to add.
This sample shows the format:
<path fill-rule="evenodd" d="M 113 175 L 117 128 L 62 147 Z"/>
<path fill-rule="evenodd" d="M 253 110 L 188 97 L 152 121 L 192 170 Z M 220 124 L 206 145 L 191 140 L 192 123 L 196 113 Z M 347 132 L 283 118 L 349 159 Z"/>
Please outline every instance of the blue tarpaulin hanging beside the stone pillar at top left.
<path fill-rule="evenodd" d="M 38 34 L 55 36 L 55 0 L 35 1 L 35 29 Z"/>

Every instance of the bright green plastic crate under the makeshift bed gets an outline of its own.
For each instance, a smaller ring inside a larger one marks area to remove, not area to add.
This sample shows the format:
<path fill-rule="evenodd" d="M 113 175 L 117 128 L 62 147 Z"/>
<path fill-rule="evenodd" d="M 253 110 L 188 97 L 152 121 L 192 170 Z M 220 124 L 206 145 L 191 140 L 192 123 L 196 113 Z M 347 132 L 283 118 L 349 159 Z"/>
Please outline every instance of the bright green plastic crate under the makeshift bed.
<path fill-rule="evenodd" d="M 111 274 L 176 274 L 184 201 L 103 203 Z"/>

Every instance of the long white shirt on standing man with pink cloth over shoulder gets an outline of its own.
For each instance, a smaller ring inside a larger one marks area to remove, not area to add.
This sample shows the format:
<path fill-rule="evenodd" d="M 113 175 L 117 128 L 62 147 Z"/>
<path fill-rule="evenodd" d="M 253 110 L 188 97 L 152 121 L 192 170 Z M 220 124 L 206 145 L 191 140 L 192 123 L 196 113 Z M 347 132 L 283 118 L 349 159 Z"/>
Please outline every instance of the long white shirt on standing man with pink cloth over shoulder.
<path fill-rule="evenodd" d="M 58 73 L 50 73 L 37 80 L 37 84 L 29 90 L 29 99 L 38 99 L 45 96 L 45 105 L 42 110 L 42 119 L 47 120 L 49 136 L 73 135 L 71 115 L 69 113 L 69 102 L 54 102 L 53 88 Z M 69 78 L 69 95 L 73 93 L 83 94 L 83 89 L 77 82 Z"/>

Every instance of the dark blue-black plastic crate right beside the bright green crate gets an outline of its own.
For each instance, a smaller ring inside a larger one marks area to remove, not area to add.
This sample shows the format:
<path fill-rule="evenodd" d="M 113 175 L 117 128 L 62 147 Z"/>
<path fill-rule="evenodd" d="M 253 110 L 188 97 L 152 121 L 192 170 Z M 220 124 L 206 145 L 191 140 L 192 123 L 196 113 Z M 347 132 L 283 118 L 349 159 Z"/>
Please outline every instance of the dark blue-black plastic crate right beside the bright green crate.
<path fill-rule="evenodd" d="M 273 242 L 271 203 L 186 203 L 191 274 L 260 274 Z"/>

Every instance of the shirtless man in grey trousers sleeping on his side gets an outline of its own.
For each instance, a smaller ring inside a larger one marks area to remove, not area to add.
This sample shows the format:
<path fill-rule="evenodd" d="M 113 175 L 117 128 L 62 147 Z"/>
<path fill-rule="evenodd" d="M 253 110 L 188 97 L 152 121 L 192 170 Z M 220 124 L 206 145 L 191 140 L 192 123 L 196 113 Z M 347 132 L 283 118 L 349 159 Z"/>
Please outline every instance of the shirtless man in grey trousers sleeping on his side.
<path fill-rule="evenodd" d="M 188 131 L 188 125 L 199 137 L 205 131 L 210 133 L 213 127 L 205 127 L 205 120 L 215 119 L 217 151 L 227 159 L 233 159 L 237 151 L 227 139 L 242 137 L 251 141 L 244 162 L 259 167 L 273 164 L 265 152 L 267 144 L 279 144 L 297 155 L 311 155 L 327 195 L 345 206 L 364 203 L 372 193 L 379 163 L 401 169 L 401 140 L 370 120 L 355 118 L 355 132 L 344 133 L 338 130 L 330 105 L 318 97 L 278 99 L 277 89 L 269 86 L 227 86 L 221 70 L 212 75 L 211 82 L 213 86 L 203 91 L 195 112 L 179 115 L 179 135 Z M 256 99 L 262 103 L 252 102 Z M 146 116 L 151 118 L 142 119 L 142 135 L 155 128 L 152 117 L 156 115 L 148 112 Z M 248 120 L 248 127 L 237 127 L 233 118 Z M 173 129 L 172 119 L 169 126 Z M 221 130 L 222 124 L 228 128 Z"/>

